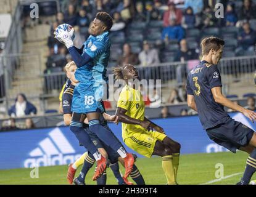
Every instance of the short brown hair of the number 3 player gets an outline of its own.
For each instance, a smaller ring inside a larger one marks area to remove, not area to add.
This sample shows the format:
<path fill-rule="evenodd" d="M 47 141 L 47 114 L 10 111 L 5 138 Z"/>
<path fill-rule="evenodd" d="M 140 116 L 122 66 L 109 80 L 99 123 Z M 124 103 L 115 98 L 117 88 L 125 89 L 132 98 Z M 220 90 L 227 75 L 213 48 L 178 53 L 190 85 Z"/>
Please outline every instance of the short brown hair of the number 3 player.
<path fill-rule="evenodd" d="M 219 50 L 224 45 L 225 41 L 223 39 L 213 36 L 204 38 L 201 42 L 202 55 L 208 55 L 211 49 Z"/>

